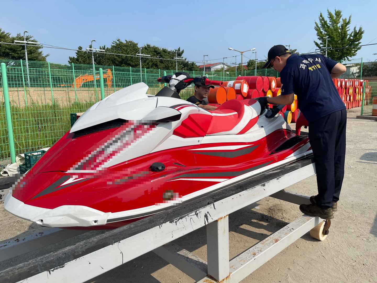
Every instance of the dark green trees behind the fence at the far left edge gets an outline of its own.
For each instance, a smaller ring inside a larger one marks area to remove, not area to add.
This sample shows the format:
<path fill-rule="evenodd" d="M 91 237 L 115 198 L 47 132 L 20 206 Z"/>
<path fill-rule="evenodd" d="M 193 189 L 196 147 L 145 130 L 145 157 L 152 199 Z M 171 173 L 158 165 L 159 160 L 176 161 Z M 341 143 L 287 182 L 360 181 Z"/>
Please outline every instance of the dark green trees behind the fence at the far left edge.
<path fill-rule="evenodd" d="M 12 36 L 9 32 L 5 32 L 0 28 L 0 42 L 14 43 L 14 40 L 24 40 L 24 37 L 20 33 Z M 29 34 L 26 34 L 26 40 L 38 42 Z M 28 45 L 26 48 L 28 51 L 28 60 L 31 61 L 46 61 L 46 57 L 50 55 L 43 55 L 41 51 L 42 46 L 38 44 Z M 25 60 L 25 45 L 0 44 L 0 59 Z"/>

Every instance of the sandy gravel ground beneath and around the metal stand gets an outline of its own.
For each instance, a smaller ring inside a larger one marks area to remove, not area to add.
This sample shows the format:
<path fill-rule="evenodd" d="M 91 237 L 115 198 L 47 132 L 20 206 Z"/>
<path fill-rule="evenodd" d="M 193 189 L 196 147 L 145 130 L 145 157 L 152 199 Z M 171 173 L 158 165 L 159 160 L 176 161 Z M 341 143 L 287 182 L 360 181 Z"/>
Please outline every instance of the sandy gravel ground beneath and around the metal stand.
<path fill-rule="evenodd" d="M 377 282 L 377 122 L 356 119 L 359 113 L 360 108 L 348 110 L 345 179 L 338 211 L 326 240 L 315 240 L 309 233 L 303 235 L 242 280 L 242 283 Z M 315 177 L 301 181 L 287 190 L 307 195 L 316 194 Z M 261 200 L 257 208 L 249 206 L 234 212 L 229 216 L 230 258 L 301 215 L 297 205 L 271 197 Z M 0 205 L 0 243 L 37 234 L 44 229 L 46 228 L 12 216 Z M 0 262 L 0 271 L 98 233 L 89 232 L 40 251 Z M 206 260 L 205 228 L 181 237 L 175 243 Z M 87 281 L 89 282 L 195 281 L 149 252 Z"/>

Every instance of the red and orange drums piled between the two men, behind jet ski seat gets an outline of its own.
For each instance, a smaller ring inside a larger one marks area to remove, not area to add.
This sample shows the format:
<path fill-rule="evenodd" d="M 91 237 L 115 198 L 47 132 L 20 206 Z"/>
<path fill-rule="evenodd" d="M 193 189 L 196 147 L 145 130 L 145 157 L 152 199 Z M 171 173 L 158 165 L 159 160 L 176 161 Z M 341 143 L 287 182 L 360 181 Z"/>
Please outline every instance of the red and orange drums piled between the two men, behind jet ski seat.
<path fill-rule="evenodd" d="M 219 85 L 214 89 L 210 89 L 208 94 L 208 102 L 210 105 L 222 104 L 230 99 L 247 99 L 257 97 L 276 97 L 280 95 L 280 78 L 263 77 L 263 76 L 244 76 L 237 77 L 237 80 L 229 82 L 211 81 L 213 84 Z M 235 94 L 234 94 L 235 92 Z M 273 106 L 270 105 L 272 108 Z M 297 96 L 291 105 L 285 106 L 280 114 L 287 123 L 296 122 L 299 115 L 297 108 Z"/>

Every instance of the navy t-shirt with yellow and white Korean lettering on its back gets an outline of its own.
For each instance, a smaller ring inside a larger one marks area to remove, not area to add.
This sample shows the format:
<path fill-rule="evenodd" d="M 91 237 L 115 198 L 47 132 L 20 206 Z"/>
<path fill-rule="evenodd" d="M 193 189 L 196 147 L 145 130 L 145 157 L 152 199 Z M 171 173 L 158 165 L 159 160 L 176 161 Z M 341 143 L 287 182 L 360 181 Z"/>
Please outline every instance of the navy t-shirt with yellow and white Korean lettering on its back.
<path fill-rule="evenodd" d="M 320 54 L 292 54 L 280 72 L 281 94 L 297 95 L 298 108 L 309 123 L 346 108 L 330 75 L 336 64 Z"/>

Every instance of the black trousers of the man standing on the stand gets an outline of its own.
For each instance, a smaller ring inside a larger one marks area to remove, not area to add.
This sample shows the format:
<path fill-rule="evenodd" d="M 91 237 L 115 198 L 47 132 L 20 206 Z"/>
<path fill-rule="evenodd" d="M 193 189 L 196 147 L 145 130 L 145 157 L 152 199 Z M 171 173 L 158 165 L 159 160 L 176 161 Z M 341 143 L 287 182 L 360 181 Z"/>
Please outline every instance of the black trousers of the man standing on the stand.
<path fill-rule="evenodd" d="M 344 177 L 346 154 L 346 109 L 309 123 L 309 140 L 316 163 L 317 206 L 322 209 L 338 201 Z"/>

